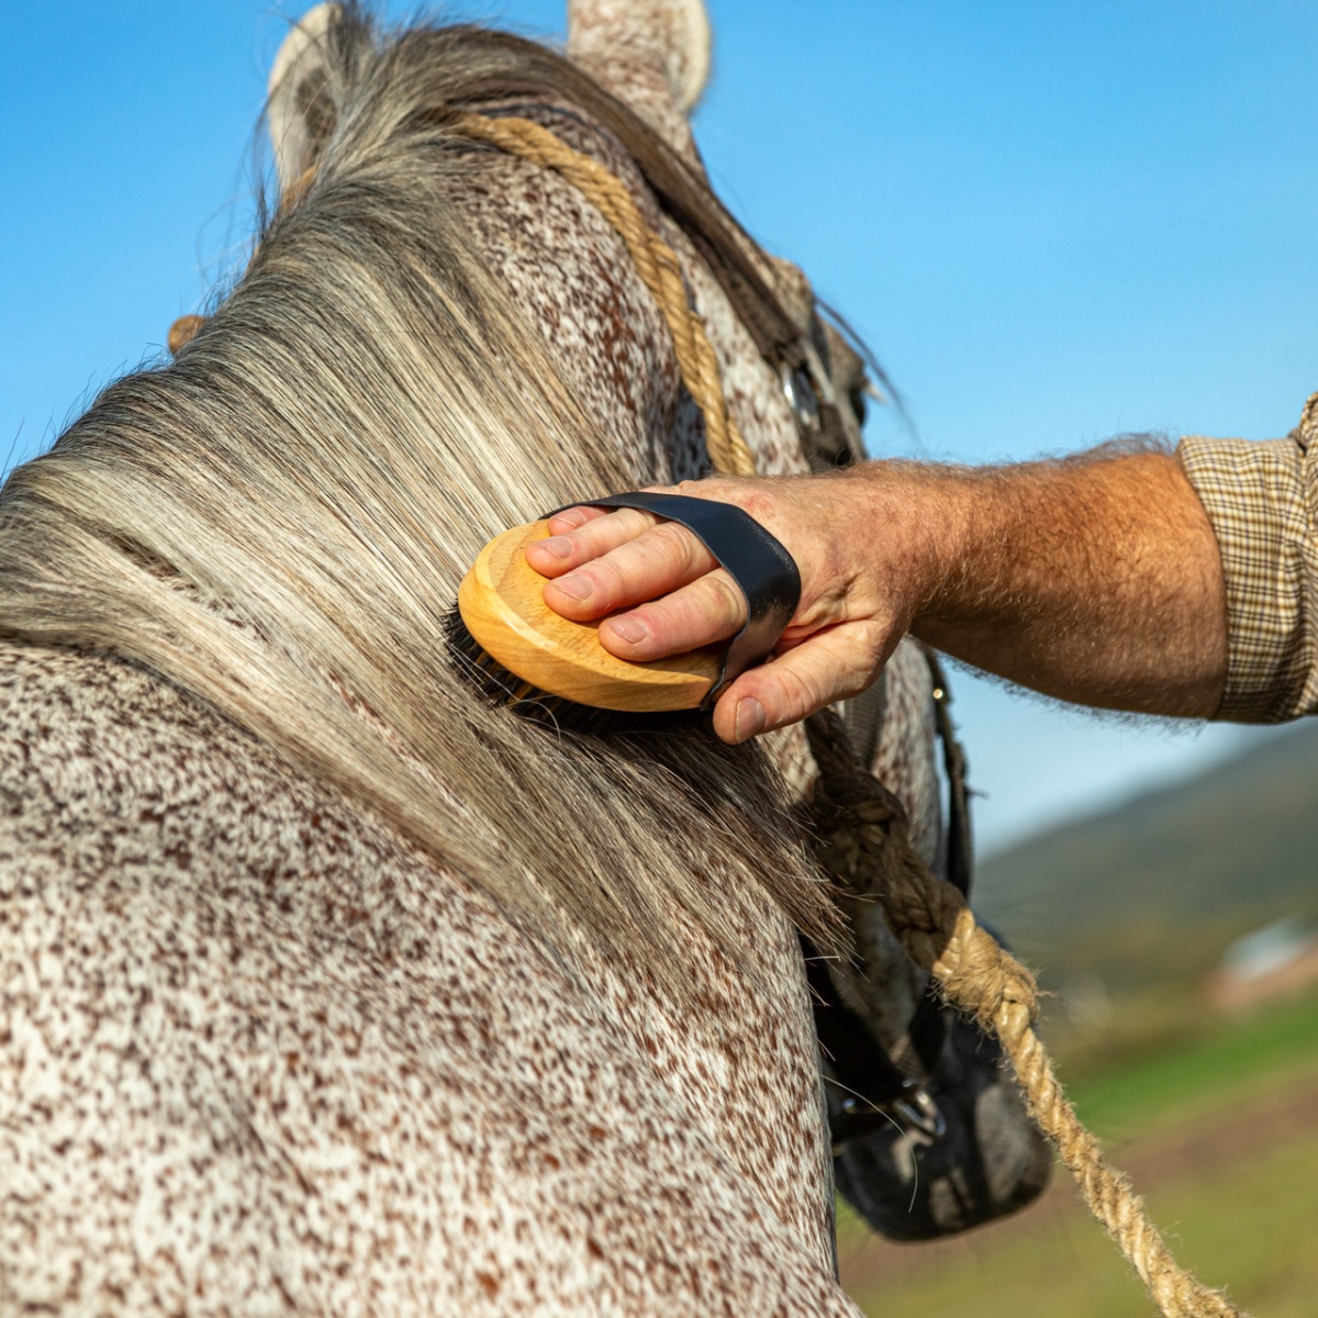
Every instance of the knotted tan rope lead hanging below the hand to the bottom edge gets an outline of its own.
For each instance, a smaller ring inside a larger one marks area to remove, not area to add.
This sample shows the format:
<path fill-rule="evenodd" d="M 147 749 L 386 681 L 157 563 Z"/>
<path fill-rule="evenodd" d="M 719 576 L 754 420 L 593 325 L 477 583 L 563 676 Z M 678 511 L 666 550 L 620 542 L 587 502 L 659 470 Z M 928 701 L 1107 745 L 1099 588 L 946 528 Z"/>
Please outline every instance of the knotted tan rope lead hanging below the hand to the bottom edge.
<path fill-rule="evenodd" d="M 1103 1160 L 1066 1101 L 1035 1032 L 1033 975 L 975 923 L 960 890 L 933 875 L 915 853 L 900 801 L 857 767 L 837 714 L 815 714 L 807 731 L 820 767 L 812 807 L 818 862 L 845 895 L 876 898 L 888 928 L 944 999 L 1002 1041 L 1031 1116 L 1159 1310 L 1166 1318 L 1242 1318 L 1226 1296 L 1177 1264 L 1127 1176 Z"/>

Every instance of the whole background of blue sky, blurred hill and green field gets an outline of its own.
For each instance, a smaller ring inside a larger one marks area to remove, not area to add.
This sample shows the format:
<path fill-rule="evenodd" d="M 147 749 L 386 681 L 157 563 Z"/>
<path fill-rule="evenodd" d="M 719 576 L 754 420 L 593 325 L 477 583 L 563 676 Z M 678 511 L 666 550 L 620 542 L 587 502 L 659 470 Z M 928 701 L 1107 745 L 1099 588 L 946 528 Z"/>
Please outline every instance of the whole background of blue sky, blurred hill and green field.
<path fill-rule="evenodd" d="M 1318 389 L 1311 0 L 709 7 L 712 178 L 900 390 L 871 453 L 1296 423 Z M 304 7 L 11 8 L 0 468 L 241 266 L 265 75 Z M 563 29 L 561 0 L 445 13 Z M 1082 1114 L 1206 1280 L 1311 1314 L 1318 738 L 1101 720 L 966 672 L 953 692 L 979 904 L 1041 969 Z M 950 1246 L 846 1224 L 844 1275 L 874 1313 L 1148 1311 L 1068 1190 Z"/>

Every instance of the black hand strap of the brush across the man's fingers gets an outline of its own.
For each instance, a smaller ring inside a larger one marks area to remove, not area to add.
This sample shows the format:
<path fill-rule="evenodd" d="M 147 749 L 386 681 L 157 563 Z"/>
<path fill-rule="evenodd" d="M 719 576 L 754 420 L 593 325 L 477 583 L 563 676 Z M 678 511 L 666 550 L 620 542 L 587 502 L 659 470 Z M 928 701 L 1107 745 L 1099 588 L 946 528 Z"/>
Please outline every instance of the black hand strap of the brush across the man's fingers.
<path fill-rule="evenodd" d="M 565 507 L 634 507 L 677 522 L 709 550 L 737 584 L 746 600 L 746 626 L 724 652 L 724 666 L 709 688 L 705 708 L 713 704 L 721 687 L 772 654 L 783 629 L 796 613 L 801 598 L 801 575 L 796 561 L 750 513 L 735 503 L 634 490 L 567 503 L 544 515 L 554 517 Z"/>

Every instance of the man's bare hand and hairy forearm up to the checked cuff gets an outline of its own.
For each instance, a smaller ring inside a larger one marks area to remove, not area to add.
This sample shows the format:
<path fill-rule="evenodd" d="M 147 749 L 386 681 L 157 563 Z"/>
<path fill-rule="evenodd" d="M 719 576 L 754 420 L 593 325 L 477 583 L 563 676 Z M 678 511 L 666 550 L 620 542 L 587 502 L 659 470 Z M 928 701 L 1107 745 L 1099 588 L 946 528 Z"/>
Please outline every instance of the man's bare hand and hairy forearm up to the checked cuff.
<path fill-rule="evenodd" d="M 1211 525 L 1165 453 L 970 469 L 866 463 L 826 476 L 692 482 L 792 554 L 801 597 L 772 663 L 731 681 L 714 730 L 745 741 L 865 689 L 913 630 L 1082 704 L 1210 717 L 1227 666 Z M 651 662 L 726 641 L 745 600 L 709 551 L 645 513 L 572 509 L 527 548 L 546 602 Z"/>

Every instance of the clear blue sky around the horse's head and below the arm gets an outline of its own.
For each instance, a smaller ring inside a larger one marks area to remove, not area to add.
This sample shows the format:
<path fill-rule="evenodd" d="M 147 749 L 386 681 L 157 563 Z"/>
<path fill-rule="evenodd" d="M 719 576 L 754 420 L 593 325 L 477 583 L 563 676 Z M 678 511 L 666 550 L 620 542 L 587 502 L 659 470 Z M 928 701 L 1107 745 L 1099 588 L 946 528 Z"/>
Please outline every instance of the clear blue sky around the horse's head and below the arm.
<path fill-rule="evenodd" d="M 14 5 L 0 78 L 0 465 L 161 351 L 245 250 L 265 72 L 302 5 Z M 406 13 L 413 7 L 389 5 Z M 451 9 L 552 36 L 563 7 Z M 1123 431 L 1268 438 L 1318 389 L 1318 5 L 712 0 L 710 173 L 869 337 L 913 427 L 996 461 Z M 1240 745 L 961 676 L 1002 845 Z"/>

